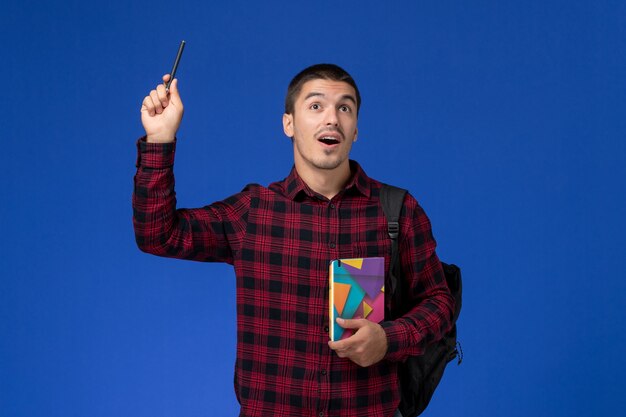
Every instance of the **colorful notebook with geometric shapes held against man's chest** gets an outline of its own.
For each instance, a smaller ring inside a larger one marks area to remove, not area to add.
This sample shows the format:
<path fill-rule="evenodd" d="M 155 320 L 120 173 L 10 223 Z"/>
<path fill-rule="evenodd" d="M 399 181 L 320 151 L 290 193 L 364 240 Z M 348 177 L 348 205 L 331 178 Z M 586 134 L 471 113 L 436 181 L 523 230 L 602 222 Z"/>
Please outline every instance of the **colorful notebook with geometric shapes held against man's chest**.
<path fill-rule="evenodd" d="M 337 259 L 329 273 L 330 339 L 350 337 L 353 330 L 337 324 L 366 318 L 380 323 L 385 317 L 385 258 Z"/>

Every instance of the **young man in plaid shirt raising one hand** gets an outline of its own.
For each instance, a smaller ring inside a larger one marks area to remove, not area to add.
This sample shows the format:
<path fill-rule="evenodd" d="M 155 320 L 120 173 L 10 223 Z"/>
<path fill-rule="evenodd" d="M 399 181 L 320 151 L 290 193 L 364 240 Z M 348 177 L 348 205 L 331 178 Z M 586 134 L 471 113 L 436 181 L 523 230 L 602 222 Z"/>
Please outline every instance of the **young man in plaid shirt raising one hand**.
<path fill-rule="evenodd" d="M 163 77 L 167 82 L 169 76 Z M 398 363 L 438 340 L 453 299 L 430 222 L 407 195 L 400 218 L 401 266 L 415 307 L 380 324 L 344 320 L 348 339 L 329 342 L 331 260 L 385 257 L 391 242 L 381 184 L 349 159 L 357 140 L 358 88 L 336 65 L 291 81 L 283 128 L 294 167 L 268 187 L 249 185 L 221 202 L 176 209 L 173 163 L 183 104 L 177 80 L 145 97 L 133 195 L 141 250 L 227 262 L 237 279 L 235 392 L 241 416 L 394 416 Z"/>

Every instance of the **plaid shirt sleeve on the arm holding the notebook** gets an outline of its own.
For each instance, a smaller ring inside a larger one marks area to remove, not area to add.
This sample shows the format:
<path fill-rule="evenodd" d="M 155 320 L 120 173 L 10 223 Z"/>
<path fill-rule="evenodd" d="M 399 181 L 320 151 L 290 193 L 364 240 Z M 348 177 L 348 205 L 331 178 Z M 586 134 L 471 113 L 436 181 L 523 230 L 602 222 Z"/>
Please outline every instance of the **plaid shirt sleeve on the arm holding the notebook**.
<path fill-rule="evenodd" d="M 381 323 L 387 335 L 385 359 L 404 361 L 424 352 L 451 327 L 454 298 L 448 289 L 430 220 L 417 201 L 407 194 L 400 218 L 400 265 L 414 306 L 402 317 Z"/>

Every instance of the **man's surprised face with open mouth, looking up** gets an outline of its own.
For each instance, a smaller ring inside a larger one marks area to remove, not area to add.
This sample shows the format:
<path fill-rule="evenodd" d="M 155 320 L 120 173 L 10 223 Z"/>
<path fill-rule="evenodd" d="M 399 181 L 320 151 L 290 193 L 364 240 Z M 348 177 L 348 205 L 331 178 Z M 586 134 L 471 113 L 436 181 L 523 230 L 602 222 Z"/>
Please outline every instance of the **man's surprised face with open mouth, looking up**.
<path fill-rule="evenodd" d="M 348 164 L 356 140 L 356 92 L 343 81 L 307 81 L 293 114 L 283 115 L 285 134 L 293 138 L 296 169 L 333 170 Z"/>

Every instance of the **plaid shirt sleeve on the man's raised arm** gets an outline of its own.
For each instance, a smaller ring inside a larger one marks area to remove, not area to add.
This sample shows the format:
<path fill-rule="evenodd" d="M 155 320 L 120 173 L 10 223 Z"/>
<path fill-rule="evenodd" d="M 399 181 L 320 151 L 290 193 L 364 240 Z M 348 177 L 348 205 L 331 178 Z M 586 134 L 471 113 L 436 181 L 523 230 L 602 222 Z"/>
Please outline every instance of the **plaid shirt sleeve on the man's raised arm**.
<path fill-rule="evenodd" d="M 249 192 L 196 209 L 176 209 L 176 142 L 137 142 L 133 225 L 137 246 L 171 258 L 233 263 L 246 230 Z"/>

